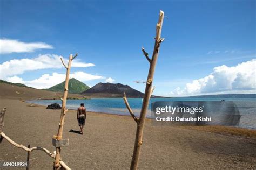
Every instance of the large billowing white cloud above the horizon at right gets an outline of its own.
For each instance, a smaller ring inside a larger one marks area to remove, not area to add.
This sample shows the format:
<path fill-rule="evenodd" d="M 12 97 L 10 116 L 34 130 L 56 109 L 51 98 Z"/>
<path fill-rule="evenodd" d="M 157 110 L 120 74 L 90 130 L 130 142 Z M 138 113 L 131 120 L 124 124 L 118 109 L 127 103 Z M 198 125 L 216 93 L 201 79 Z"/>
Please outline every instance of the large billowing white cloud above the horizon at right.
<path fill-rule="evenodd" d="M 256 89 L 256 60 L 242 62 L 234 67 L 214 67 L 213 72 L 201 79 L 187 83 L 185 88 L 176 88 L 173 96 L 215 93 L 252 93 Z"/>

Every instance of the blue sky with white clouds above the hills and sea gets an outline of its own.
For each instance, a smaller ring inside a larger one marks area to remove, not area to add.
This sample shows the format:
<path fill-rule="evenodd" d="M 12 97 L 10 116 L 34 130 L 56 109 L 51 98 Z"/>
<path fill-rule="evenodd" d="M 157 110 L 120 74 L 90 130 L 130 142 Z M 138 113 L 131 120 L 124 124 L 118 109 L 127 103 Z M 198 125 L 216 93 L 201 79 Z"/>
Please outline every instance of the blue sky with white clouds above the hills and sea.
<path fill-rule="evenodd" d="M 154 95 L 256 93 L 255 1 L 0 0 L 0 79 L 38 89 L 70 77 L 144 92 L 159 10 Z"/>

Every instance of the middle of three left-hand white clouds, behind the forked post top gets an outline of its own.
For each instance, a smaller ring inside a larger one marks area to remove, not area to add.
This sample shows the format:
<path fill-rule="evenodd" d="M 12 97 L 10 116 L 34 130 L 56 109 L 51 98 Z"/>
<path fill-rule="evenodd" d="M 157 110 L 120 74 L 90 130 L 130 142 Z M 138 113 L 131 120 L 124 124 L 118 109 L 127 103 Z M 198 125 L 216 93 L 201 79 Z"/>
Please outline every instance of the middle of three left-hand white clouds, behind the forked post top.
<path fill-rule="evenodd" d="M 64 59 L 66 65 L 68 60 Z M 85 63 L 79 59 L 72 61 L 72 67 L 92 67 L 93 63 Z M 46 69 L 46 68 L 62 68 L 64 67 L 60 61 L 60 56 L 55 54 L 38 55 L 32 59 L 14 59 L 5 61 L 0 64 L 0 79 L 6 79 L 6 77 L 20 75 L 24 72 Z"/>

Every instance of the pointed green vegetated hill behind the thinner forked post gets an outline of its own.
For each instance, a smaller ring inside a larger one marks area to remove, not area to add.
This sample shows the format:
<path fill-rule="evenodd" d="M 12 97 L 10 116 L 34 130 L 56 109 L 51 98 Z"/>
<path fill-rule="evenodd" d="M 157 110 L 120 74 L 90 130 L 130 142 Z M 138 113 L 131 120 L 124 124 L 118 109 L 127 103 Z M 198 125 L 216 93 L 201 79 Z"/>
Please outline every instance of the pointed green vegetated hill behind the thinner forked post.
<path fill-rule="evenodd" d="M 65 81 L 63 81 L 62 83 L 59 83 L 55 86 L 50 87 L 49 89 L 45 89 L 45 90 L 49 90 L 49 91 L 63 91 L 65 87 Z M 90 87 L 88 87 L 85 83 L 80 82 L 74 78 L 69 80 L 69 93 L 82 93 L 83 91 L 90 89 Z"/>

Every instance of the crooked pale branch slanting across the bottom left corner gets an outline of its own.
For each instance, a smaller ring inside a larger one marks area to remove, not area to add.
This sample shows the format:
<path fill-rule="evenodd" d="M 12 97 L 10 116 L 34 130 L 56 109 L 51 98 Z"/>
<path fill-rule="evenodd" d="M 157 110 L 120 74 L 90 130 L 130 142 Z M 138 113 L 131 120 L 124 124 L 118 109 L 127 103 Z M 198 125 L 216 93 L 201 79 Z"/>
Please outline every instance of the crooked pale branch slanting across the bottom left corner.
<path fill-rule="evenodd" d="M 23 146 L 21 144 L 17 144 L 15 141 L 11 140 L 8 136 L 6 136 L 6 134 L 4 134 L 4 132 L 1 132 L 1 136 L 3 138 L 5 138 L 10 144 L 18 147 L 18 148 L 22 148 L 23 150 L 27 151 L 27 152 L 32 152 L 32 151 L 35 151 L 35 150 L 39 150 L 39 151 L 44 151 L 46 154 L 49 155 L 49 157 L 53 158 L 55 157 L 55 155 L 53 153 L 51 153 L 49 150 L 47 150 L 46 148 L 44 147 L 39 147 L 39 146 L 36 146 L 36 147 L 32 147 L 32 148 L 28 148 L 26 146 Z M 65 169 L 70 169 L 63 161 L 59 161 L 59 164 L 64 167 Z"/>

